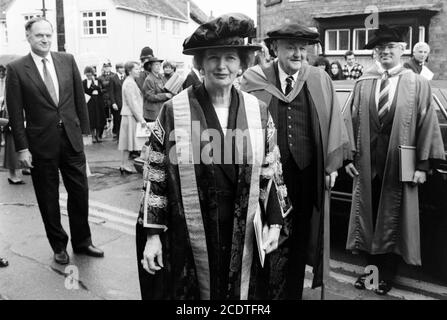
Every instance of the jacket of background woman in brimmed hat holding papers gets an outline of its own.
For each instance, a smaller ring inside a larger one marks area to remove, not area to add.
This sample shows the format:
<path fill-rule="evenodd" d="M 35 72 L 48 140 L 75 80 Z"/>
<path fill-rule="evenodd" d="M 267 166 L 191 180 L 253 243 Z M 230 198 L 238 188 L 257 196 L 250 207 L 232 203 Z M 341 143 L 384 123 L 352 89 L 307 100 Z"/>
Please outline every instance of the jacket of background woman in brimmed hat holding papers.
<path fill-rule="evenodd" d="M 165 79 L 162 75 L 155 76 L 149 73 L 143 85 L 144 95 L 144 118 L 155 121 L 163 103 L 169 100 L 164 89 Z"/>

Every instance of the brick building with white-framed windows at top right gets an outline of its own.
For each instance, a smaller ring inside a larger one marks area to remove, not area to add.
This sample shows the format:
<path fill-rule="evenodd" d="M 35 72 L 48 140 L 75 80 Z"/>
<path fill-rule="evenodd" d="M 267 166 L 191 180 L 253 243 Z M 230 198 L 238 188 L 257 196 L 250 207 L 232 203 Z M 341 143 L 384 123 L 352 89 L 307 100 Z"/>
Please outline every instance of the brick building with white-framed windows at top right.
<path fill-rule="evenodd" d="M 322 46 L 316 53 L 344 64 L 343 53 L 352 50 L 368 67 L 372 52 L 362 48 L 377 22 L 371 17 L 377 13 L 380 24 L 408 28 L 404 60 L 411 57 L 415 43 L 425 41 L 431 47 L 428 67 L 435 79 L 447 79 L 446 10 L 442 0 L 258 0 L 257 37 L 264 38 L 269 29 L 284 22 L 300 22 L 320 32 Z"/>

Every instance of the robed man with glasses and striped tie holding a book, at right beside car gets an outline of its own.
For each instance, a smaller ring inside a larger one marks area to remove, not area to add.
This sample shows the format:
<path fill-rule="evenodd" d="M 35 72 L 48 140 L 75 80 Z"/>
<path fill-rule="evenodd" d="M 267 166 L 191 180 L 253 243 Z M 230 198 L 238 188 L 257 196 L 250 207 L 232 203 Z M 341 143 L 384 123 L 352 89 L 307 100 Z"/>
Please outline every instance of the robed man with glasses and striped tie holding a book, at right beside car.
<path fill-rule="evenodd" d="M 401 63 L 403 34 L 384 25 L 375 31 L 365 49 L 376 51 L 380 67 L 358 80 L 348 108 L 355 151 L 346 166 L 354 178 L 347 249 L 365 253 L 367 264 L 378 268 L 379 295 L 391 289 L 399 256 L 421 265 L 418 185 L 433 160 L 444 159 L 430 84 Z M 367 276 L 355 287 L 365 289 Z"/>

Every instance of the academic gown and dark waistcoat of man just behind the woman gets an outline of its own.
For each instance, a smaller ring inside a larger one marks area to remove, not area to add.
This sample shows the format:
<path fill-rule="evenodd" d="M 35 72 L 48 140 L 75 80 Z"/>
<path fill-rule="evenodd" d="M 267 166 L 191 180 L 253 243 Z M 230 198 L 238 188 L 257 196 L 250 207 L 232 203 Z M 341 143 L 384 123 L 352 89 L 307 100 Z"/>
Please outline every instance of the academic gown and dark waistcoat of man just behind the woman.
<path fill-rule="evenodd" d="M 265 67 L 255 66 L 248 69 L 243 75 L 241 89 L 255 95 L 269 106 L 269 111 L 278 128 L 278 144 L 281 149 L 285 176 L 290 178 L 288 189 L 291 191 L 292 203 L 294 209 L 299 209 L 291 214 L 291 219 L 295 219 L 292 222 L 292 237 L 295 229 L 298 238 L 284 242 L 284 247 L 280 248 L 279 252 L 285 260 L 300 260 L 297 263 L 300 268 L 306 263 L 313 266 L 313 287 L 315 288 L 321 285 L 323 279 L 325 176 L 342 167 L 343 161 L 350 157 L 351 147 L 335 90 L 328 74 L 323 70 L 303 64 L 297 83 L 292 92 L 286 96 L 279 83 L 277 64 L 278 62 L 274 61 Z M 297 108 L 300 107 L 307 108 L 305 119 L 302 118 L 302 114 L 297 115 L 299 113 Z M 303 134 L 310 141 L 299 139 Z M 306 169 L 303 174 L 304 170 L 301 169 L 308 167 L 309 156 L 313 168 Z M 292 158 L 293 161 L 287 161 L 287 158 Z M 289 165 L 290 163 L 292 165 Z M 297 166 L 296 164 L 299 163 L 305 165 Z M 309 173 L 309 170 L 312 172 Z M 294 189 L 296 192 L 293 192 Z M 307 202 L 307 205 L 302 206 L 303 202 Z M 306 208 L 302 210 L 297 207 Z M 309 210 L 310 213 L 308 213 Z M 303 217 L 303 213 L 299 211 L 306 211 L 305 215 L 310 216 Z M 295 253 L 290 254 L 289 250 Z M 288 272 L 286 270 L 290 269 L 288 264 L 291 261 L 284 262 L 284 259 L 280 259 L 279 264 L 285 268 L 284 272 Z M 304 270 L 302 273 L 304 277 Z M 285 279 L 285 281 L 289 280 Z M 297 288 L 297 290 L 300 289 Z M 300 295 L 298 292 L 297 298 Z"/>

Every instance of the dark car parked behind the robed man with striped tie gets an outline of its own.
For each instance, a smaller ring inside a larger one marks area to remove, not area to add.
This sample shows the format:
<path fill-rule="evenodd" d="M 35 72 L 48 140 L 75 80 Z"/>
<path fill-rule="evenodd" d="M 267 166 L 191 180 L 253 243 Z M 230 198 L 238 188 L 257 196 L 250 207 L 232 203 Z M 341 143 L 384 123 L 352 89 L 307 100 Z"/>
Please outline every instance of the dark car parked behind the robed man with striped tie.
<path fill-rule="evenodd" d="M 447 81 L 430 83 L 447 157 Z M 351 105 L 354 84 L 355 81 L 334 81 L 343 113 Z M 343 168 L 332 192 L 334 216 L 349 215 L 351 197 L 352 179 Z M 419 208 L 423 268 L 447 281 L 447 161 L 437 163 L 427 182 L 419 188 Z"/>

